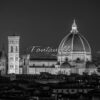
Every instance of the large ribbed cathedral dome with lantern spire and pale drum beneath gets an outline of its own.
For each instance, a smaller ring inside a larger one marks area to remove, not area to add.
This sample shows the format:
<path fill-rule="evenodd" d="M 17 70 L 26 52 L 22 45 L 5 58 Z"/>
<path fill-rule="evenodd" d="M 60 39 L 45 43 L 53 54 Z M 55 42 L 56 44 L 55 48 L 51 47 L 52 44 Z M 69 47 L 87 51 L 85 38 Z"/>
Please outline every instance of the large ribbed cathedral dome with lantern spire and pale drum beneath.
<path fill-rule="evenodd" d="M 64 37 L 58 47 L 58 61 L 65 61 L 66 59 L 68 61 L 91 60 L 90 45 L 86 38 L 78 32 L 75 21 L 72 30 Z"/>

